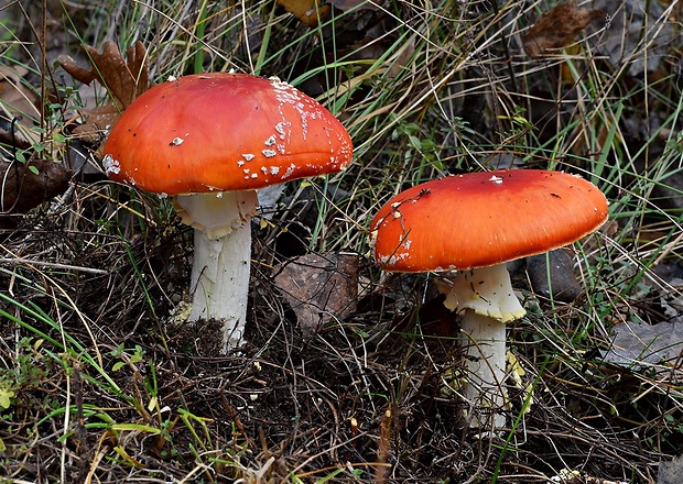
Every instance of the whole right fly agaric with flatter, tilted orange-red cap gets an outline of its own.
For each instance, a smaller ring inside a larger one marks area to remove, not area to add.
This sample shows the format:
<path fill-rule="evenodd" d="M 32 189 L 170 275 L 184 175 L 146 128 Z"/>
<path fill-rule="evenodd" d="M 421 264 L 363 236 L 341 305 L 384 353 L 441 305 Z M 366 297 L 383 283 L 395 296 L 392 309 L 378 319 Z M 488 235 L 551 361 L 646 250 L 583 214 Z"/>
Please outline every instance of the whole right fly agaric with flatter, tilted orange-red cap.
<path fill-rule="evenodd" d="M 561 172 L 508 169 L 448 176 L 409 188 L 375 216 L 375 262 L 386 271 L 457 271 L 445 306 L 467 344 L 470 426 L 505 426 L 506 322 L 525 311 L 506 262 L 567 245 L 607 220 L 589 182 Z"/>

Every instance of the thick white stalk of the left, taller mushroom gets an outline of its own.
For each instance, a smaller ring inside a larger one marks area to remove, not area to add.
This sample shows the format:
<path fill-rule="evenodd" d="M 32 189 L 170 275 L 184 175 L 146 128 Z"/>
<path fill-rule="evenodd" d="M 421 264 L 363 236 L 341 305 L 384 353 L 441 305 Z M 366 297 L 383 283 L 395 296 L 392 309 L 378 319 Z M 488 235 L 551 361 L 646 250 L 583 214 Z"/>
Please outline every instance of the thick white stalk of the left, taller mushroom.
<path fill-rule="evenodd" d="M 189 289 L 189 321 L 223 322 L 223 351 L 242 342 L 251 266 L 250 219 L 258 206 L 253 190 L 180 196 L 183 222 L 195 229 Z"/>

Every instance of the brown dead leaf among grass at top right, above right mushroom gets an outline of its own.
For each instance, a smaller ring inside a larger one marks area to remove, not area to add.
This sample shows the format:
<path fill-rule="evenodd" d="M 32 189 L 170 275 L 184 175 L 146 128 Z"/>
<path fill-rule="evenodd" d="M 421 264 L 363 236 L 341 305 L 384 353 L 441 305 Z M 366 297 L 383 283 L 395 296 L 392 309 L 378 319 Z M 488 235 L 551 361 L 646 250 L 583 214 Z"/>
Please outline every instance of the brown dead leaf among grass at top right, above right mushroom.
<path fill-rule="evenodd" d="M 601 10 L 579 8 L 574 2 L 560 3 L 543 13 L 522 37 L 524 52 L 536 58 L 550 54 L 550 51 L 566 47 L 575 42 L 578 33 L 590 22 L 604 16 Z"/>

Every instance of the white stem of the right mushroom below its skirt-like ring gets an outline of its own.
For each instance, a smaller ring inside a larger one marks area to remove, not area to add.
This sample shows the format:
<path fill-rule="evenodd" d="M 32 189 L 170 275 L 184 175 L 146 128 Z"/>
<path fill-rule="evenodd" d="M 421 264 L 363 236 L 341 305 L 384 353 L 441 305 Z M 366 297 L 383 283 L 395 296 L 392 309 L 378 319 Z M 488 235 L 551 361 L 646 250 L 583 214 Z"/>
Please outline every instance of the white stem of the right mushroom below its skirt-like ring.
<path fill-rule="evenodd" d="M 481 429 L 503 427 L 506 324 L 471 309 L 465 309 L 460 317 L 463 345 L 466 346 L 464 395 L 469 404 L 469 425 Z"/>

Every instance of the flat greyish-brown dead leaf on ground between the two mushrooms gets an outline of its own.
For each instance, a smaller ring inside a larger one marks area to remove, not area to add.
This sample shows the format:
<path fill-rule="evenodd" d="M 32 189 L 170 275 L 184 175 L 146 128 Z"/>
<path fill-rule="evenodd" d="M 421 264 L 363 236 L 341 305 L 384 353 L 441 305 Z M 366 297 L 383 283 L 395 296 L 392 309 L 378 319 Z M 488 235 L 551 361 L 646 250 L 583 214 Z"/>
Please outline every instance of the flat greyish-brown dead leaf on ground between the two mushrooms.
<path fill-rule="evenodd" d="M 296 315 L 304 338 L 356 309 L 357 255 L 302 255 L 277 266 L 275 274 L 275 286 Z"/>

